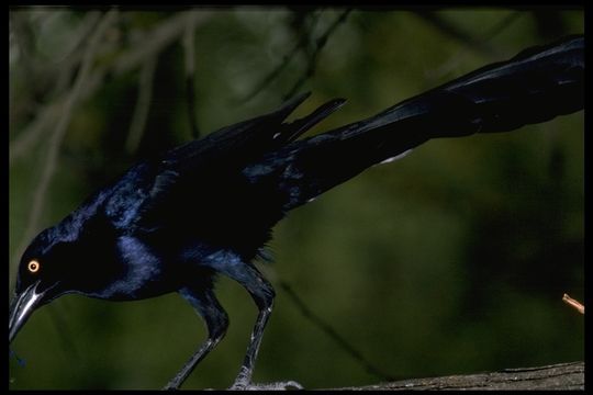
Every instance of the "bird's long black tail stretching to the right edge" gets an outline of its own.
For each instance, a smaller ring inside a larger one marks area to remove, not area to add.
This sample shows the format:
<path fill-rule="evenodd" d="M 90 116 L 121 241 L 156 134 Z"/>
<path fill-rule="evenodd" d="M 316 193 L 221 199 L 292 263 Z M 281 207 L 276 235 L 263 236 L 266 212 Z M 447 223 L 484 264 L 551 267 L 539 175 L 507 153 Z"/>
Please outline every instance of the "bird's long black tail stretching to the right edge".
<path fill-rule="evenodd" d="M 582 110 L 583 53 L 583 36 L 526 49 L 367 120 L 293 142 L 245 171 L 273 185 L 287 212 L 430 138 L 507 132 Z"/>

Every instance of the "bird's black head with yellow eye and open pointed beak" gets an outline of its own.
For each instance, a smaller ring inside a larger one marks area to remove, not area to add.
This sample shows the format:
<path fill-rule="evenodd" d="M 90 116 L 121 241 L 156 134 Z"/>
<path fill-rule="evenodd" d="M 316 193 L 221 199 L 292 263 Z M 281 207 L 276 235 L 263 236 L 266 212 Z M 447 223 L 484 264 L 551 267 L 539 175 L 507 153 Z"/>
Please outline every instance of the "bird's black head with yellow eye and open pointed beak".
<path fill-rule="evenodd" d="M 42 232 L 21 258 L 9 312 L 9 343 L 36 308 L 71 291 L 68 279 L 76 247 L 52 236 L 52 229 Z"/>

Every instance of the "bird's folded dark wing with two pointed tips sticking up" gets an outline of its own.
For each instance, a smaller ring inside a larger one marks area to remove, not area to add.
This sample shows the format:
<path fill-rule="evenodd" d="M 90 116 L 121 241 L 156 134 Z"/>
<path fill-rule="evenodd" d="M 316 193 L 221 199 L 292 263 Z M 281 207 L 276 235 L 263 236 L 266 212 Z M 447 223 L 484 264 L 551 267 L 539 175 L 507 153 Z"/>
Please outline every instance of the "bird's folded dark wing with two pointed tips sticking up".
<path fill-rule="evenodd" d="M 345 102 L 332 100 L 302 119 L 284 122 L 307 97 L 301 94 L 269 114 L 224 127 L 134 167 L 111 188 L 105 213 L 131 233 L 197 222 L 201 206 L 220 202 L 221 195 L 225 201 L 245 192 L 242 181 L 235 180 L 242 168 L 294 140 Z"/>

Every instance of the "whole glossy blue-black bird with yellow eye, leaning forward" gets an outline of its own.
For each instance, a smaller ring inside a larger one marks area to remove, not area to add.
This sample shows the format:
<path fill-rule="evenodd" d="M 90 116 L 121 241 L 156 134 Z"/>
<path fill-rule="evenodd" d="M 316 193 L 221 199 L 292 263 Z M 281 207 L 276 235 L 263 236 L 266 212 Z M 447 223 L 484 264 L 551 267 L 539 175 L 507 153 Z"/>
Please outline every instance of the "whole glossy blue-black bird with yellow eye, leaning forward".
<path fill-rule="evenodd" d="M 583 36 L 529 48 L 367 120 L 298 139 L 345 102 L 333 100 L 286 122 L 303 94 L 134 166 L 27 247 L 10 307 L 9 343 L 35 308 L 67 293 L 133 301 L 178 292 L 209 332 L 166 386 L 178 388 L 225 335 L 227 315 L 213 290 L 223 274 L 243 285 L 259 311 L 233 384 L 250 387 L 275 297 L 253 260 L 275 224 L 430 138 L 512 131 L 582 110 L 583 50 Z"/>

